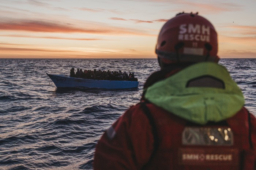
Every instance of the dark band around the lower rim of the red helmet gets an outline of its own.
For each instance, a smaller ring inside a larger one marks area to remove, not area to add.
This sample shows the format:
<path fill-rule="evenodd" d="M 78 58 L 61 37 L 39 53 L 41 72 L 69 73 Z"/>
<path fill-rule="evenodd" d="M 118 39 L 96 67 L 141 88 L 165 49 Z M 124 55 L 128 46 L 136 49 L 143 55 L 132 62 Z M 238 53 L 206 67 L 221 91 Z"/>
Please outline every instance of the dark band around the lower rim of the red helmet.
<path fill-rule="evenodd" d="M 159 58 L 165 58 L 173 61 L 177 61 L 177 53 L 175 52 L 165 52 L 160 50 L 155 50 Z M 198 51 L 200 52 L 200 51 Z M 196 51 L 195 51 L 196 53 Z M 203 55 L 192 55 L 192 54 L 178 54 L 178 58 L 181 62 L 215 62 L 217 56 L 203 56 Z"/>

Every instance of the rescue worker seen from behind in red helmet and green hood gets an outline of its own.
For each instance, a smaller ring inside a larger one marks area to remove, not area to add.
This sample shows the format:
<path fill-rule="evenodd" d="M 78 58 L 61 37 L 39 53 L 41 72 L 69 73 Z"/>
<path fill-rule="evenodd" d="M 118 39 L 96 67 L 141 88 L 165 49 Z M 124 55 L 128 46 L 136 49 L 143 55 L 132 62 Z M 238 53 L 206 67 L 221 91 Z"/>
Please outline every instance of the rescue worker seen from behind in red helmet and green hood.
<path fill-rule="evenodd" d="M 253 170 L 256 118 L 217 64 L 213 25 L 179 13 L 163 25 L 155 51 L 161 70 L 103 134 L 94 169 Z"/>

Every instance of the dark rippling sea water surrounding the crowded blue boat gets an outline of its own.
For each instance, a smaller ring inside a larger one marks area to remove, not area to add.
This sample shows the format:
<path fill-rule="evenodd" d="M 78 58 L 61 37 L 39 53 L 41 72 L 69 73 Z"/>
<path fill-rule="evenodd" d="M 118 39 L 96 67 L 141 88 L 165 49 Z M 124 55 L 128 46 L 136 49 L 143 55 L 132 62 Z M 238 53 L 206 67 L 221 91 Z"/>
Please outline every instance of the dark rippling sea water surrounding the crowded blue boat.
<path fill-rule="evenodd" d="M 221 59 L 256 114 L 256 59 Z M 157 59 L 0 59 L 0 169 L 92 169 L 95 145 L 139 102 Z M 50 74 L 74 67 L 131 71 L 133 90 L 59 90 Z"/>

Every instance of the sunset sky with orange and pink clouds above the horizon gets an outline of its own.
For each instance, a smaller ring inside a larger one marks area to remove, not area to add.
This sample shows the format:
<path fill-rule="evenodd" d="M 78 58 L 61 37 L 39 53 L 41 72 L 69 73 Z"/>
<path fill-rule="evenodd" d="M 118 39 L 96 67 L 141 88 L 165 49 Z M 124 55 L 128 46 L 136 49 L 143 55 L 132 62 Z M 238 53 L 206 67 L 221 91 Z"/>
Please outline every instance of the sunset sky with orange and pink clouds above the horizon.
<path fill-rule="evenodd" d="M 220 58 L 256 58 L 256 0 L 1 0 L 0 58 L 156 58 L 162 25 L 199 12 Z"/>

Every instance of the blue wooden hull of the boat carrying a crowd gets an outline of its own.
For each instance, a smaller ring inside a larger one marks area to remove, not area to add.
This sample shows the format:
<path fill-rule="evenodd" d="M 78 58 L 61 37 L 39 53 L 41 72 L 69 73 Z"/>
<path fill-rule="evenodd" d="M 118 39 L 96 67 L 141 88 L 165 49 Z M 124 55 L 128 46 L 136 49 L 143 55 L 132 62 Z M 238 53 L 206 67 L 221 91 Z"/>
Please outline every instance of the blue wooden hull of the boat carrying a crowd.
<path fill-rule="evenodd" d="M 47 73 L 46 73 L 47 74 Z M 135 81 L 115 81 L 115 80 L 92 80 L 82 78 L 72 78 L 64 75 L 47 74 L 56 87 L 66 88 L 107 88 L 124 89 L 138 88 L 139 82 Z"/>

